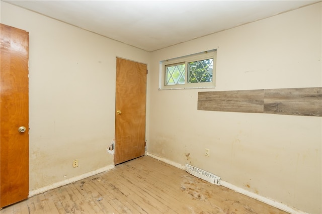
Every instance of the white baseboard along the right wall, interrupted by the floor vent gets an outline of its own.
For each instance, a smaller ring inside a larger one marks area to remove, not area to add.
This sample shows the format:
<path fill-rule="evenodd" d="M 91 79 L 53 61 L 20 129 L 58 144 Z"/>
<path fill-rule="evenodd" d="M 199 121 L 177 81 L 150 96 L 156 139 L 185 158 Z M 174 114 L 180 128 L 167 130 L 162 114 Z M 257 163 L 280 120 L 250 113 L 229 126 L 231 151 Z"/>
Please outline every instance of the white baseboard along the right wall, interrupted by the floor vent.
<path fill-rule="evenodd" d="M 168 159 L 161 158 L 161 157 L 158 157 L 158 156 L 156 156 L 156 155 L 152 155 L 152 154 L 150 154 L 150 153 L 148 153 L 148 152 L 146 153 L 146 155 L 147 155 L 147 156 L 150 156 L 150 157 L 152 157 L 152 158 L 155 158 L 155 159 L 157 159 L 157 160 L 159 160 L 159 161 L 162 161 L 162 162 L 168 163 L 168 164 L 170 164 L 170 165 L 172 165 L 172 166 L 175 166 L 175 167 L 177 167 L 177 168 L 179 168 L 179 169 L 185 170 L 185 166 L 184 166 L 184 165 L 181 165 L 181 164 L 179 164 L 179 163 L 175 163 L 175 162 L 170 161 L 170 160 L 168 160 Z M 247 196 L 249 196 L 249 197 L 251 197 L 251 198 L 254 198 L 254 199 L 256 199 L 256 200 L 262 201 L 262 202 L 264 202 L 264 203 L 266 203 L 266 204 L 268 204 L 268 205 L 274 206 L 274 207 L 276 207 L 276 208 L 279 208 L 279 209 L 284 210 L 284 211 L 289 212 L 289 213 L 294 213 L 294 214 L 295 214 L 295 213 L 296 213 L 296 214 L 308 214 L 307 212 L 304 212 L 304 211 L 301 211 L 301 210 L 299 210 L 299 209 L 293 208 L 293 207 L 291 207 L 291 206 L 285 205 L 285 204 L 283 204 L 283 203 L 277 202 L 277 201 L 275 201 L 275 200 L 272 200 L 272 199 L 270 199 L 270 198 L 267 198 L 267 197 L 264 197 L 264 196 L 262 196 L 262 195 L 256 194 L 256 193 L 254 193 L 254 192 L 250 192 L 250 191 L 248 191 L 248 190 L 246 190 L 246 189 L 243 189 L 243 188 L 237 187 L 237 186 L 235 186 L 235 185 L 233 185 L 233 184 L 231 184 L 231 183 L 228 183 L 228 182 L 226 182 L 226 181 L 223 181 L 223 180 L 220 180 L 220 185 L 221 185 L 221 186 L 224 186 L 224 187 L 226 187 L 226 188 L 228 188 L 228 189 L 231 189 L 231 190 L 233 190 L 233 191 L 235 191 L 235 192 L 238 192 L 238 193 L 240 193 L 240 194 L 247 195 Z"/>

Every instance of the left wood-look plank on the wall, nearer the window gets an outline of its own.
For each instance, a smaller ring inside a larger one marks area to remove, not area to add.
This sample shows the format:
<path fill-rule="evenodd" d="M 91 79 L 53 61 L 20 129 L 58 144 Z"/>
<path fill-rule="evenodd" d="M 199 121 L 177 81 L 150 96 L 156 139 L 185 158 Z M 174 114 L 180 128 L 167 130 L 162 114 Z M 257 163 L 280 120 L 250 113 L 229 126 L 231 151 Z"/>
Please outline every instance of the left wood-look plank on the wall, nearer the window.
<path fill-rule="evenodd" d="M 198 110 L 263 113 L 264 90 L 198 92 Z"/>

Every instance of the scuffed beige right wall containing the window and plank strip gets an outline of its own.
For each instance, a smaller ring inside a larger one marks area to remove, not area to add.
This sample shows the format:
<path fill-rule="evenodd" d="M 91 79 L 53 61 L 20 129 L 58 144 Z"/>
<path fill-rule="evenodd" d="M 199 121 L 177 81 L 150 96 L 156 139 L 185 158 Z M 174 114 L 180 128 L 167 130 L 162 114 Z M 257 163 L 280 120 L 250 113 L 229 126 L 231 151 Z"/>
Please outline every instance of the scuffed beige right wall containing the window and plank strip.
<path fill-rule="evenodd" d="M 148 152 L 321 213 L 320 117 L 197 111 L 209 89 L 158 90 L 160 61 L 215 48 L 212 90 L 321 87 L 321 25 L 318 3 L 152 52 Z"/>

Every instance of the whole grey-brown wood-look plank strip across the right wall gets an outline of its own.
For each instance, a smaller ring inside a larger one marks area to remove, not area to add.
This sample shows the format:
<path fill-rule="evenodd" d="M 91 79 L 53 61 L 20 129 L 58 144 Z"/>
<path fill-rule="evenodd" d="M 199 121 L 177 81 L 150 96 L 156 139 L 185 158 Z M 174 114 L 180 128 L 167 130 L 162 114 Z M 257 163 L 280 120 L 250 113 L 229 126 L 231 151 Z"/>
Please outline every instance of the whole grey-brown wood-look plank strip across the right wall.
<path fill-rule="evenodd" d="M 198 110 L 322 117 L 322 87 L 198 92 Z"/>

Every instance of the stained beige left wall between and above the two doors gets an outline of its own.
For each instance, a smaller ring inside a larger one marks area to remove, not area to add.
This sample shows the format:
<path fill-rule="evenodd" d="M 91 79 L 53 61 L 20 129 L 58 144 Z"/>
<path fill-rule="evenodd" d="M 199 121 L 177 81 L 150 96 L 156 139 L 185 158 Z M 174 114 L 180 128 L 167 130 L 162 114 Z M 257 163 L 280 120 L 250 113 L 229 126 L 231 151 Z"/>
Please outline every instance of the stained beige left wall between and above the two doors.
<path fill-rule="evenodd" d="M 30 190 L 114 165 L 116 56 L 150 54 L 4 2 L 1 23 L 29 32 Z"/>

